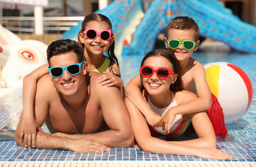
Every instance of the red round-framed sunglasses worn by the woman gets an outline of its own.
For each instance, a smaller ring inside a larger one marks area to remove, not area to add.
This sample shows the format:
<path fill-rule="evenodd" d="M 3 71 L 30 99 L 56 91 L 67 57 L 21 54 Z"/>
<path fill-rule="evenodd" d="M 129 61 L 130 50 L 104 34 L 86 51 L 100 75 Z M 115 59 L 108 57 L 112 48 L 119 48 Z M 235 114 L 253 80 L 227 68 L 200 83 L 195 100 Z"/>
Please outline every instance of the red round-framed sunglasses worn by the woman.
<path fill-rule="evenodd" d="M 165 79 L 169 78 L 171 75 L 175 74 L 174 71 L 171 71 L 167 67 L 160 67 L 158 69 L 153 69 L 150 66 L 142 66 L 141 69 L 139 70 L 139 72 L 141 73 L 141 75 L 143 77 L 146 77 L 146 78 L 149 78 L 150 76 L 153 75 L 153 73 L 156 73 L 158 78 L 160 78 L 162 80 L 165 80 Z"/>

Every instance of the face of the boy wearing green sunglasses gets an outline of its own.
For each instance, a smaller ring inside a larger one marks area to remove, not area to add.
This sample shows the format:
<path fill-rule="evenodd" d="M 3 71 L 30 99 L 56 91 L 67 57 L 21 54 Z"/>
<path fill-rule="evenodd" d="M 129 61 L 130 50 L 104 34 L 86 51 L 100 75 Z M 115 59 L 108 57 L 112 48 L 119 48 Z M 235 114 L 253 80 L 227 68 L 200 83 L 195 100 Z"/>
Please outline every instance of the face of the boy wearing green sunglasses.
<path fill-rule="evenodd" d="M 172 49 L 168 45 L 168 40 L 171 39 L 178 39 L 178 40 L 192 40 L 193 42 L 197 42 L 193 49 L 187 50 L 182 46 L 182 43 L 178 46 L 176 49 Z M 177 29 L 171 29 L 167 33 L 167 37 L 164 38 L 164 42 L 166 44 L 166 48 L 171 49 L 175 56 L 179 61 L 186 60 L 191 57 L 193 54 L 193 51 L 196 51 L 200 41 L 195 41 L 195 31 L 193 30 L 177 30 Z"/>

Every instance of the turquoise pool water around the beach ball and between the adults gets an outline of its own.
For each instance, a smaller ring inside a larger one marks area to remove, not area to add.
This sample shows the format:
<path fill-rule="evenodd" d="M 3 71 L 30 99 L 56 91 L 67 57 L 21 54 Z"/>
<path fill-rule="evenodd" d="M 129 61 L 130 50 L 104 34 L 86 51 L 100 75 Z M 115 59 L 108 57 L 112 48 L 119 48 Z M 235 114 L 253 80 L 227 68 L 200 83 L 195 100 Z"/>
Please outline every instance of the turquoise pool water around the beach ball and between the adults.
<path fill-rule="evenodd" d="M 135 75 L 139 74 L 139 67 L 144 56 L 123 56 L 119 58 L 121 67 L 121 78 L 126 85 Z M 202 65 L 210 62 L 229 62 L 240 67 L 250 78 L 253 86 L 253 100 L 250 108 L 242 116 L 233 123 L 226 124 L 229 135 L 224 139 L 217 137 L 218 141 L 230 142 L 256 142 L 256 55 L 246 53 L 200 53 L 195 52 L 192 55 Z M 234 83 L 235 84 L 235 83 Z"/>

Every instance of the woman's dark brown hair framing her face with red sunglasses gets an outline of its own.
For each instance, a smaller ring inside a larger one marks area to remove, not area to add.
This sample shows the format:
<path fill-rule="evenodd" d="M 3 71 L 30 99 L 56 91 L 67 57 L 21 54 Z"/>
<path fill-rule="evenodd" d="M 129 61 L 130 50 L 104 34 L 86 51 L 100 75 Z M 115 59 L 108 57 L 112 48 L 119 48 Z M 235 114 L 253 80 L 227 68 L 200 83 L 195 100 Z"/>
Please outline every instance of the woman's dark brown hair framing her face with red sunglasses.
<path fill-rule="evenodd" d="M 141 66 L 143 66 L 145 60 L 150 57 L 164 57 L 172 64 L 173 71 L 176 74 L 178 74 L 178 77 L 177 77 L 177 80 L 174 82 L 174 84 L 170 85 L 170 90 L 173 92 L 182 91 L 184 89 L 182 80 L 181 80 L 182 68 L 181 68 L 181 65 L 179 64 L 179 61 L 175 57 L 173 51 L 170 49 L 166 49 L 166 48 L 150 51 L 144 56 L 144 58 L 141 62 Z M 140 89 L 141 89 L 141 91 L 143 91 L 143 89 L 145 89 L 145 87 L 143 85 L 143 76 L 141 76 Z"/>

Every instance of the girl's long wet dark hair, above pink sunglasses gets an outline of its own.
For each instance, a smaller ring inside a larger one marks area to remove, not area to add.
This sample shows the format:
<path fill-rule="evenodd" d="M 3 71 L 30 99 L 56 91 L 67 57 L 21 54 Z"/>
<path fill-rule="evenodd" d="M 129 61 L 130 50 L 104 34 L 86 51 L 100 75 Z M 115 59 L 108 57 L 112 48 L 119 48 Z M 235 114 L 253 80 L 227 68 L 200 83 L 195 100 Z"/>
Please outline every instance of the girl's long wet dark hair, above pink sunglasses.
<path fill-rule="evenodd" d="M 108 24 L 108 27 L 112 30 L 112 23 L 110 21 L 110 19 L 108 19 L 108 17 L 106 17 L 105 15 L 99 14 L 99 13 L 90 13 L 89 15 L 86 15 L 86 17 L 84 17 L 84 20 L 81 24 L 81 30 L 78 33 L 78 44 L 79 46 L 84 49 L 84 44 L 81 43 L 81 41 L 79 40 L 79 34 L 83 33 L 83 31 L 85 30 L 86 26 L 89 24 L 89 22 L 91 21 L 97 21 L 97 22 L 106 22 L 106 24 Z M 113 33 L 112 33 L 113 36 Z M 113 62 L 115 62 L 117 64 L 117 66 L 119 66 L 117 57 L 115 56 L 115 40 L 113 41 L 113 44 L 110 46 L 110 48 L 108 48 L 108 50 L 106 51 L 106 57 L 110 58 L 110 72 L 112 72 L 114 75 L 116 76 L 120 76 L 119 74 L 116 73 L 116 71 L 113 71 Z"/>

